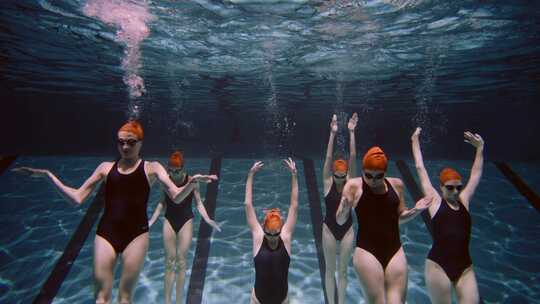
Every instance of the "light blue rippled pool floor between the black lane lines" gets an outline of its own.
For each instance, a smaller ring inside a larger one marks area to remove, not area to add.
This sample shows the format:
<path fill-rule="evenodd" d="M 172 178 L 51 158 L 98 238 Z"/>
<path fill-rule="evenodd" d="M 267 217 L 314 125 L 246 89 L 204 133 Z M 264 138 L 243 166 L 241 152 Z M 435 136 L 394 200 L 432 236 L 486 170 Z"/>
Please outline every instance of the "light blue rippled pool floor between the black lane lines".
<path fill-rule="evenodd" d="M 165 158 L 153 158 L 164 162 Z M 66 184 L 78 187 L 106 158 L 100 157 L 19 157 L 15 166 L 48 168 Z M 319 204 L 322 201 L 322 160 L 312 158 Z M 249 303 L 254 282 L 251 234 L 244 214 L 244 187 L 248 169 L 255 159 L 222 158 L 220 181 L 216 198 L 215 220 L 222 231 L 214 231 L 210 239 L 206 272 L 203 274 L 202 303 Z M 264 208 L 278 207 L 286 211 L 290 196 L 290 176 L 281 160 L 266 159 L 264 169 L 254 182 L 254 205 L 259 217 Z M 299 213 L 292 244 L 289 271 L 291 303 L 324 303 L 321 269 L 313 225 L 320 219 L 311 216 L 313 201 L 309 201 L 306 168 L 296 159 L 299 177 Z M 189 172 L 206 173 L 211 159 L 187 159 Z M 405 159 L 409 170 L 414 164 Z M 427 161 L 432 180 L 443 166 L 452 166 L 468 177 L 468 161 Z M 510 163 L 510 166 L 538 191 L 538 164 Z M 402 177 L 394 162 L 388 176 Z M 416 182 L 418 182 L 416 180 Z M 202 187 L 203 199 L 206 186 Z M 148 215 L 152 214 L 161 190 L 151 191 Z M 0 219 L 4 233 L 0 250 L 0 303 L 30 303 L 62 256 L 71 236 L 86 213 L 94 197 L 80 207 L 62 197 L 44 180 L 16 175 L 6 171 L 0 176 Z M 409 191 L 406 203 L 413 205 Z M 192 275 L 192 261 L 197 246 L 199 223 L 196 208 L 193 241 L 188 253 L 182 303 L 186 302 Z M 473 233 L 470 251 L 475 265 L 480 294 L 484 303 L 540 303 L 540 214 L 498 170 L 486 163 L 482 181 L 471 203 Z M 139 282 L 134 303 L 162 303 L 164 277 L 164 249 L 162 241 L 163 216 L 150 229 L 150 247 Z M 356 223 L 354 223 L 356 226 Z M 97 221 L 88 232 L 78 257 L 63 280 L 53 303 L 93 303 L 92 245 Z M 356 231 L 356 229 L 355 229 Z M 421 217 L 400 226 L 401 241 L 408 261 L 408 303 L 429 303 L 424 281 L 424 263 L 431 247 L 431 238 Z M 119 266 L 119 265 L 118 265 Z M 346 303 L 363 303 L 358 278 L 350 262 Z M 120 274 L 119 267 L 116 277 Z M 201 274 L 198 274 L 199 277 Z M 116 299 L 118 280 L 113 295 Z M 174 295 L 174 291 L 173 291 Z"/>

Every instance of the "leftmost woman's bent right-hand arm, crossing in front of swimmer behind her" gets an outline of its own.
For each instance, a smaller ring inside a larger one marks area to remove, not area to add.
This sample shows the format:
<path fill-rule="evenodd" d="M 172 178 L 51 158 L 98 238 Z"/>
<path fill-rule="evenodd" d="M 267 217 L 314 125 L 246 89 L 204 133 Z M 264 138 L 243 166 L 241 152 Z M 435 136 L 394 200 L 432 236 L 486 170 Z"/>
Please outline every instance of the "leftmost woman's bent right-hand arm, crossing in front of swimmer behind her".
<path fill-rule="evenodd" d="M 159 162 L 149 162 L 149 175 L 157 176 L 158 180 L 161 182 L 165 189 L 165 193 L 169 198 L 176 204 L 180 204 L 193 189 L 195 189 L 195 184 L 197 182 L 211 183 L 212 181 L 217 180 L 215 175 L 201 175 L 195 174 L 191 177 L 189 182 L 182 187 L 177 187 L 169 177 L 169 174 L 163 168 Z"/>

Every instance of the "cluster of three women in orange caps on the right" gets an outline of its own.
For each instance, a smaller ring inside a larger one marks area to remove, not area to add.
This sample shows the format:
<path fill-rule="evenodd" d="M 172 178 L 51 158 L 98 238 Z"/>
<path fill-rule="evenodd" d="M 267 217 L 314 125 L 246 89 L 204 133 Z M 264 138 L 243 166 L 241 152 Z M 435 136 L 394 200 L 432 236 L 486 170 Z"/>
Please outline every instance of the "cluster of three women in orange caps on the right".
<path fill-rule="evenodd" d="M 414 208 L 407 209 L 404 184 L 399 178 L 386 177 L 388 158 L 380 147 L 375 146 L 367 151 L 362 159 L 362 176 L 355 177 L 354 129 L 357 120 L 355 113 L 348 123 L 349 162 L 338 158 L 333 165 L 330 163 L 337 133 L 335 115 L 330 123 L 330 139 L 323 168 L 326 216 L 322 229 L 328 303 L 335 302 L 338 242 L 338 303 L 345 303 L 347 265 L 353 247 L 353 265 L 367 303 L 405 303 L 408 271 L 399 225 L 424 210 L 429 213 L 433 231 L 433 245 L 425 264 L 431 302 L 450 304 L 454 289 L 459 303 L 479 303 L 478 285 L 469 254 L 469 202 L 482 175 L 482 137 L 464 132 L 465 142 L 476 148 L 469 180 L 464 186 L 456 170 L 444 168 L 439 174 L 439 194 L 424 167 L 419 140 L 421 128 L 417 128 L 411 136 L 411 143 L 424 197 L 416 202 Z M 358 223 L 356 246 L 353 246 L 351 210 L 354 210 Z"/>

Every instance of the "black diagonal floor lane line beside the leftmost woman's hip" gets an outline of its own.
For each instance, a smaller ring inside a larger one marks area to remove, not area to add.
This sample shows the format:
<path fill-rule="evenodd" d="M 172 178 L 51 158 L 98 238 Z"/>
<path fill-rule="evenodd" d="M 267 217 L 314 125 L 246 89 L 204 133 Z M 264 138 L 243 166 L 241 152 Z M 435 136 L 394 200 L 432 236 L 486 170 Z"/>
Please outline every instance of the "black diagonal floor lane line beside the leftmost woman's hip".
<path fill-rule="evenodd" d="M 105 185 L 102 184 L 96 194 L 92 204 L 88 207 L 84 218 L 79 223 L 77 230 L 71 237 L 58 262 L 54 266 L 51 274 L 41 287 L 41 291 L 34 299 L 34 304 L 52 303 L 54 297 L 60 290 L 60 286 L 66 279 L 71 266 L 77 259 L 79 251 L 84 245 L 90 230 L 94 226 L 103 206 L 105 205 Z"/>

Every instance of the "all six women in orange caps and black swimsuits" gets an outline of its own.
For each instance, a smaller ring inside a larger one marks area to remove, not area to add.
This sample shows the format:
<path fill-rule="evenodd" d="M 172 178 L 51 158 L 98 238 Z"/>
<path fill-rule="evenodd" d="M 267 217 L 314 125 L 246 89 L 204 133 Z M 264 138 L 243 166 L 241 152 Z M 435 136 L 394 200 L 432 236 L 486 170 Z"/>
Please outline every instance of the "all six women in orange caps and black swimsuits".
<path fill-rule="evenodd" d="M 333 144 L 338 131 L 337 117 L 330 123 L 330 138 L 323 167 L 326 215 L 322 225 L 322 245 L 326 262 L 325 290 L 328 303 L 335 303 L 336 252 L 338 260 L 338 303 L 345 302 L 347 267 L 351 255 L 360 286 L 368 303 L 404 303 L 407 291 L 407 260 L 399 236 L 399 224 L 422 211 L 429 212 L 433 246 L 425 266 L 426 285 L 433 303 L 451 303 L 452 288 L 459 303 L 478 303 L 478 286 L 469 255 L 471 219 L 469 202 L 480 181 L 483 145 L 480 135 L 465 132 L 465 141 L 476 148 L 470 178 L 463 187 L 461 176 L 451 168 L 441 171 L 439 189 L 433 187 L 424 167 L 417 128 L 411 137 L 412 150 L 424 197 L 407 209 L 404 185 L 399 178 L 386 177 L 388 159 L 379 147 L 370 148 L 362 159 L 362 175 L 356 177 L 354 132 L 358 115 L 348 122 L 349 160 L 334 159 Z M 122 260 L 118 302 L 132 302 L 133 290 L 148 250 L 148 229 L 165 209 L 165 303 L 171 303 L 176 274 L 176 303 L 180 302 L 186 272 L 186 254 L 193 234 L 192 199 L 202 218 L 214 229 L 220 226 L 209 218 L 199 193 L 200 183 L 217 180 L 215 175 L 188 175 L 183 155 L 174 152 L 165 169 L 159 162 L 144 161 L 140 150 L 144 138 L 141 124 L 128 121 L 117 133 L 120 158 L 101 163 L 79 188 L 65 185 L 45 169 L 29 167 L 14 171 L 46 177 L 67 200 L 82 204 L 104 182 L 105 209 L 94 239 L 95 302 L 111 303 L 114 268 Z M 245 189 L 247 224 L 253 241 L 255 284 L 251 303 L 288 303 L 288 272 L 292 236 L 297 220 L 298 178 L 296 164 L 288 158 L 284 166 L 291 174 L 290 206 L 285 220 L 277 208 L 265 210 L 259 222 L 253 206 L 253 178 L 263 167 L 255 162 L 248 171 Z M 147 204 L 154 181 L 163 187 L 150 220 Z M 358 231 L 356 246 L 351 210 Z M 354 250 L 353 250 L 354 249 Z"/>

